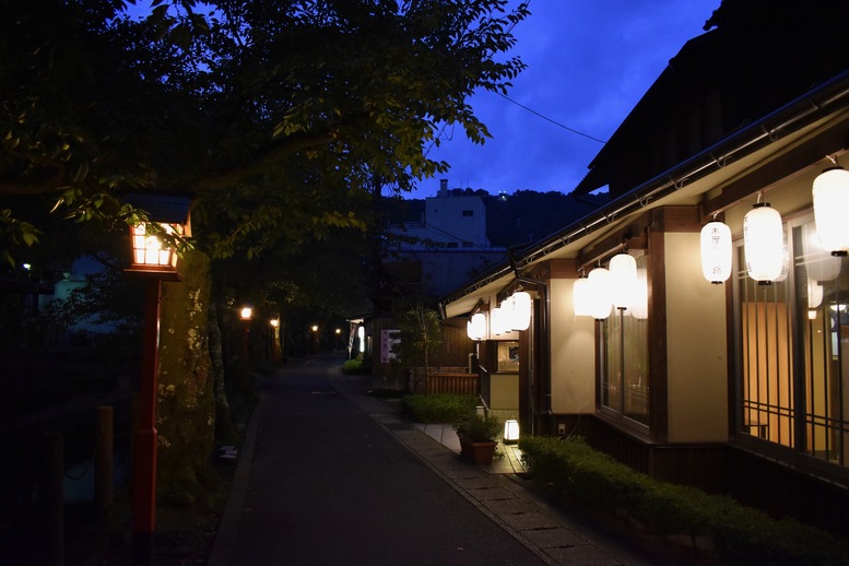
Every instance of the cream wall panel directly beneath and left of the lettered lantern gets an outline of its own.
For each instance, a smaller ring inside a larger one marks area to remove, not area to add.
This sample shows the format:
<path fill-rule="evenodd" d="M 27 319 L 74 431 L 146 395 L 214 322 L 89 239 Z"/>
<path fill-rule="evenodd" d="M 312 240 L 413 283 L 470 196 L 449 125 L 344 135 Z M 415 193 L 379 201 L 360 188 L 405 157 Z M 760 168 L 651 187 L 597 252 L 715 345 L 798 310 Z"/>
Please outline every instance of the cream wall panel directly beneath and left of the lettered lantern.
<path fill-rule="evenodd" d="M 669 440 L 728 440 L 726 288 L 701 274 L 698 233 L 665 235 Z"/>

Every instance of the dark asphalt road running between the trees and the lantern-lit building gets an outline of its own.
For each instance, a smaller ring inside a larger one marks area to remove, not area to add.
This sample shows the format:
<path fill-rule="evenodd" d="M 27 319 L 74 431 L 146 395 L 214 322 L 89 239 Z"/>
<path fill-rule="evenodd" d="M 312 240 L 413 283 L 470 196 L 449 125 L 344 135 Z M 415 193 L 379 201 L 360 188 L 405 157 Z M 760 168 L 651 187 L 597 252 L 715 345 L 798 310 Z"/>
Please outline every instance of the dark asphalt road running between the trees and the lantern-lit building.
<path fill-rule="evenodd" d="M 337 392 L 327 372 L 339 364 L 263 378 L 224 564 L 543 564 Z"/>

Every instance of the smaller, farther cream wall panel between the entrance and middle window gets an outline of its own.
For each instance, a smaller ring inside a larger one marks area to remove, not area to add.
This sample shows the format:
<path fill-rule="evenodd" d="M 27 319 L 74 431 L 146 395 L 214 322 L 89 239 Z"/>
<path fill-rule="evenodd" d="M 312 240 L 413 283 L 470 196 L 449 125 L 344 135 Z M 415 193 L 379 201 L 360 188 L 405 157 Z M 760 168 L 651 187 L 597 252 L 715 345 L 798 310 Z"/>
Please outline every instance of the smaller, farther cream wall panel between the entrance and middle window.
<path fill-rule="evenodd" d="M 575 317 L 574 283 L 575 280 L 552 280 L 549 285 L 554 413 L 596 411 L 596 321 Z"/>

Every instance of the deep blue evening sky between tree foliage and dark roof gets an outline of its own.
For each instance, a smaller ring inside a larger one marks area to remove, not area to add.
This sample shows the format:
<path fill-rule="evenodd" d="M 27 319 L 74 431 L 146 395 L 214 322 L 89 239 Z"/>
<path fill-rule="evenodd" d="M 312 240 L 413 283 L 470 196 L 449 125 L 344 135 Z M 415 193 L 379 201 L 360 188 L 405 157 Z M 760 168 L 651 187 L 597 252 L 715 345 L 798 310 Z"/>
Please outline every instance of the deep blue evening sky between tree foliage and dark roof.
<path fill-rule="evenodd" d="M 511 0 L 516 5 L 519 0 Z M 531 0 L 514 28 L 528 68 L 508 96 L 550 120 L 606 140 L 681 47 L 705 33 L 720 0 Z M 490 92 L 471 101 L 493 135 L 475 145 L 462 129 L 446 130 L 432 158 L 451 169 L 420 182 L 409 198 L 450 188 L 569 192 L 602 144 L 564 129 Z M 450 140 L 448 140 L 450 138 Z"/>

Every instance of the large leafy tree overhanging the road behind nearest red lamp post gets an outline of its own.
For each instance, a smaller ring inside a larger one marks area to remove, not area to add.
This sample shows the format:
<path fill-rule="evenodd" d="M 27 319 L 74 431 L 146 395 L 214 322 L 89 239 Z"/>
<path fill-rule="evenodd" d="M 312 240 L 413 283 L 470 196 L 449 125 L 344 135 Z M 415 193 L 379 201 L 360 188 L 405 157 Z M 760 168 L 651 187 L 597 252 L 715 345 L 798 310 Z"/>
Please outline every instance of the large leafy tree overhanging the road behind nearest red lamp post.
<path fill-rule="evenodd" d="M 507 12 L 506 0 L 156 0 L 142 20 L 128 5 L 0 0 L 0 255 L 20 262 L 51 237 L 22 202 L 49 200 L 54 215 L 101 235 L 142 217 L 130 192 L 191 191 L 200 257 L 187 259 L 210 262 L 209 298 L 197 299 L 209 283 L 197 278 L 169 287 L 165 319 L 191 311 L 221 325 L 232 282 L 256 294 L 279 284 L 243 273 L 280 273 L 306 243 L 364 229 L 372 179 L 403 191 L 445 172 L 428 145 L 446 125 L 482 143 L 468 97 L 506 92 L 523 67 L 504 54 L 527 7 Z M 165 390 L 202 390 L 211 403 L 205 381 L 189 387 L 207 370 L 180 367 L 164 345 Z M 197 368 L 209 364 L 201 347 Z M 184 410 L 193 402 L 164 401 L 164 418 L 190 421 L 207 446 L 214 412 Z M 186 469 L 179 451 L 164 456 Z"/>

